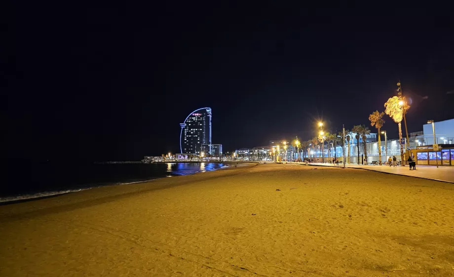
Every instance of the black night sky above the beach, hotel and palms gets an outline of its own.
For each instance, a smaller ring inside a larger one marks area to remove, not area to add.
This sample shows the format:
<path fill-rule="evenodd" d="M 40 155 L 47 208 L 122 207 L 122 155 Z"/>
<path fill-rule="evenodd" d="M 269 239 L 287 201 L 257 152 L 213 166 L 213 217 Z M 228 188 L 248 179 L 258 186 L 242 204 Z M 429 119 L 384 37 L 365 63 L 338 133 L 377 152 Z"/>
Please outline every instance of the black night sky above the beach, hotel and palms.
<path fill-rule="evenodd" d="M 454 118 L 449 17 L 166 2 L 58 10 L 39 3 L 10 15 L 2 72 L 8 154 L 176 153 L 179 123 L 200 107 L 213 109 L 213 143 L 224 151 L 309 139 L 319 119 L 331 131 L 370 125 L 399 79 L 413 101 L 409 132 Z M 385 119 L 397 137 L 397 124 Z"/>

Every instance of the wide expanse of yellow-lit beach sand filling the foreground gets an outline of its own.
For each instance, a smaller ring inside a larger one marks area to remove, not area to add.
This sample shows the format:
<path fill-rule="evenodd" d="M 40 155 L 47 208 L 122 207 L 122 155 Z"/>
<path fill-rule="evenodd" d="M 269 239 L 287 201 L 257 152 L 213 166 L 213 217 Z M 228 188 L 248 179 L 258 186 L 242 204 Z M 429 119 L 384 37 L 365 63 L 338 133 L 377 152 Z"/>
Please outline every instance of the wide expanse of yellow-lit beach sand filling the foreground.
<path fill-rule="evenodd" d="M 260 164 L 0 206 L 0 238 L 2 277 L 454 276 L 454 193 Z"/>

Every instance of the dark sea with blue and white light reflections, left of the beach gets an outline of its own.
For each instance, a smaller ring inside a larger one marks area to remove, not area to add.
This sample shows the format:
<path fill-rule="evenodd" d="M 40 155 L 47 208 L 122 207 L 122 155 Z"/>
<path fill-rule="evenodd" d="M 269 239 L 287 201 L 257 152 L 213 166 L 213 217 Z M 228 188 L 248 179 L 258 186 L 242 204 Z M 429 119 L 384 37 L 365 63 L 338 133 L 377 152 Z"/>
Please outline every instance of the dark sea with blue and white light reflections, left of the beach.
<path fill-rule="evenodd" d="M 213 171 L 220 162 L 175 163 L 65 163 L 35 162 L 8 166 L 0 187 L 0 204 L 51 197 L 112 185 L 128 185 Z"/>

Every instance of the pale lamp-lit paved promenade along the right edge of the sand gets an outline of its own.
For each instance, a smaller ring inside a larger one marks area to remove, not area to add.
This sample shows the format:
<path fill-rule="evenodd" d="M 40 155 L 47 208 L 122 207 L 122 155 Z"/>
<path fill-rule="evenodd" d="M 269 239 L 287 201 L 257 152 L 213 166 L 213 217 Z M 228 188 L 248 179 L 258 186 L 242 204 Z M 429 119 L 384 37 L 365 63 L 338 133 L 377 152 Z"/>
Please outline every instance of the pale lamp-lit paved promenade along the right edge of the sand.
<path fill-rule="evenodd" d="M 300 163 L 304 164 L 304 163 Z M 317 166 L 332 166 L 332 167 L 343 167 L 341 163 L 338 165 L 322 162 L 313 162 L 310 165 Z M 454 183 L 454 166 L 436 166 L 431 165 L 416 165 L 416 170 L 410 170 L 408 165 L 405 166 L 386 166 L 386 165 L 362 165 L 362 164 L 345 164 L 348 168 L 360 168 L 372 171 L 378 171 L 383 173 L 405 175 L 411 177 L 418 177 L 424 179 L 431 179 L 437 181 L 444 181 Z"/>

